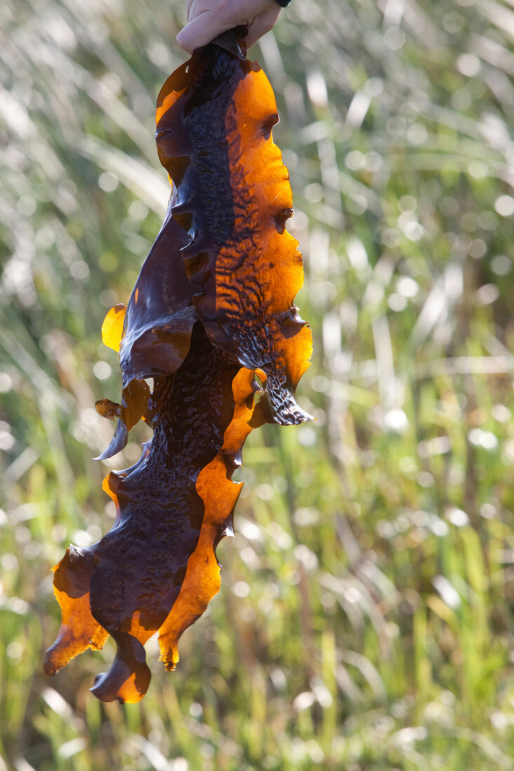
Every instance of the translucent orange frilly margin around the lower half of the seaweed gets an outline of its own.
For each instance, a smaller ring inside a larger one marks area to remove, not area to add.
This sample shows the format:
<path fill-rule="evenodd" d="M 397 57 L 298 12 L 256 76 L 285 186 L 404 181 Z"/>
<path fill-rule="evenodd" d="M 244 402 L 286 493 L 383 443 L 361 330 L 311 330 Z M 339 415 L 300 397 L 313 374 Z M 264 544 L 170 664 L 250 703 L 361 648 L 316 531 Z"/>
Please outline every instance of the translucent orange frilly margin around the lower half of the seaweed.
<path fill-rule="evenodd" d="M 161 661 L 167 669 L 175 668 L 179 658 L 179 638 L 201 616 L 220 588 L 220 566 L 215 550 L 222 537 L 233 534 L 232 514 L 242 488 L 242 483 L 232 482 L 232 473 L 241 466 L 246 437 L 253 428 L 265 422 L 261 401 L 255 403 L 256 392 L 259 392 L 259 386 L 255 382 L 255 373 L 239 369 L 232 380 L 234 409 L 225 429 L 223 444 L 214 460 L 198 474 L 195 483 L 204 509 L 201 527 L 194 549 L 186 560 L 187 567 L 177 597 L 164 622 L 156 628 L 147 628 L 147 625 L 140 624 L 140 609 L 134 608 L 130 631 L 113 628 L 107 631 L 103 628 L 93 615 L 90 598 L 102 541 L 83 549 L 70 546 L 54 568 L 54 592 L 63 620 L 55 643 L 46 652 L 44 668 L 47 675 L 59 672 L 71 658 L 87 648 L 102 648 L 110 634 L 117 643 L 117 656 L 110 671 L 98 675 L 92 691 L 104 701 L 138 702 L 150 683 L 143 645 L 155 631 L 159 633 Z M 150 455 L 151 446 L 147 443 L 140 460 L 133 467 L 124 472 L 111 473 L 104 480 L 104 490 L 117 505 L 117 521 L 113 530 L 120 524 L 123 507 L 123 501 L 118 498 L 119 480 L 137 470 Z M 113 559 L 117 559 L 116 555 Z"/>

